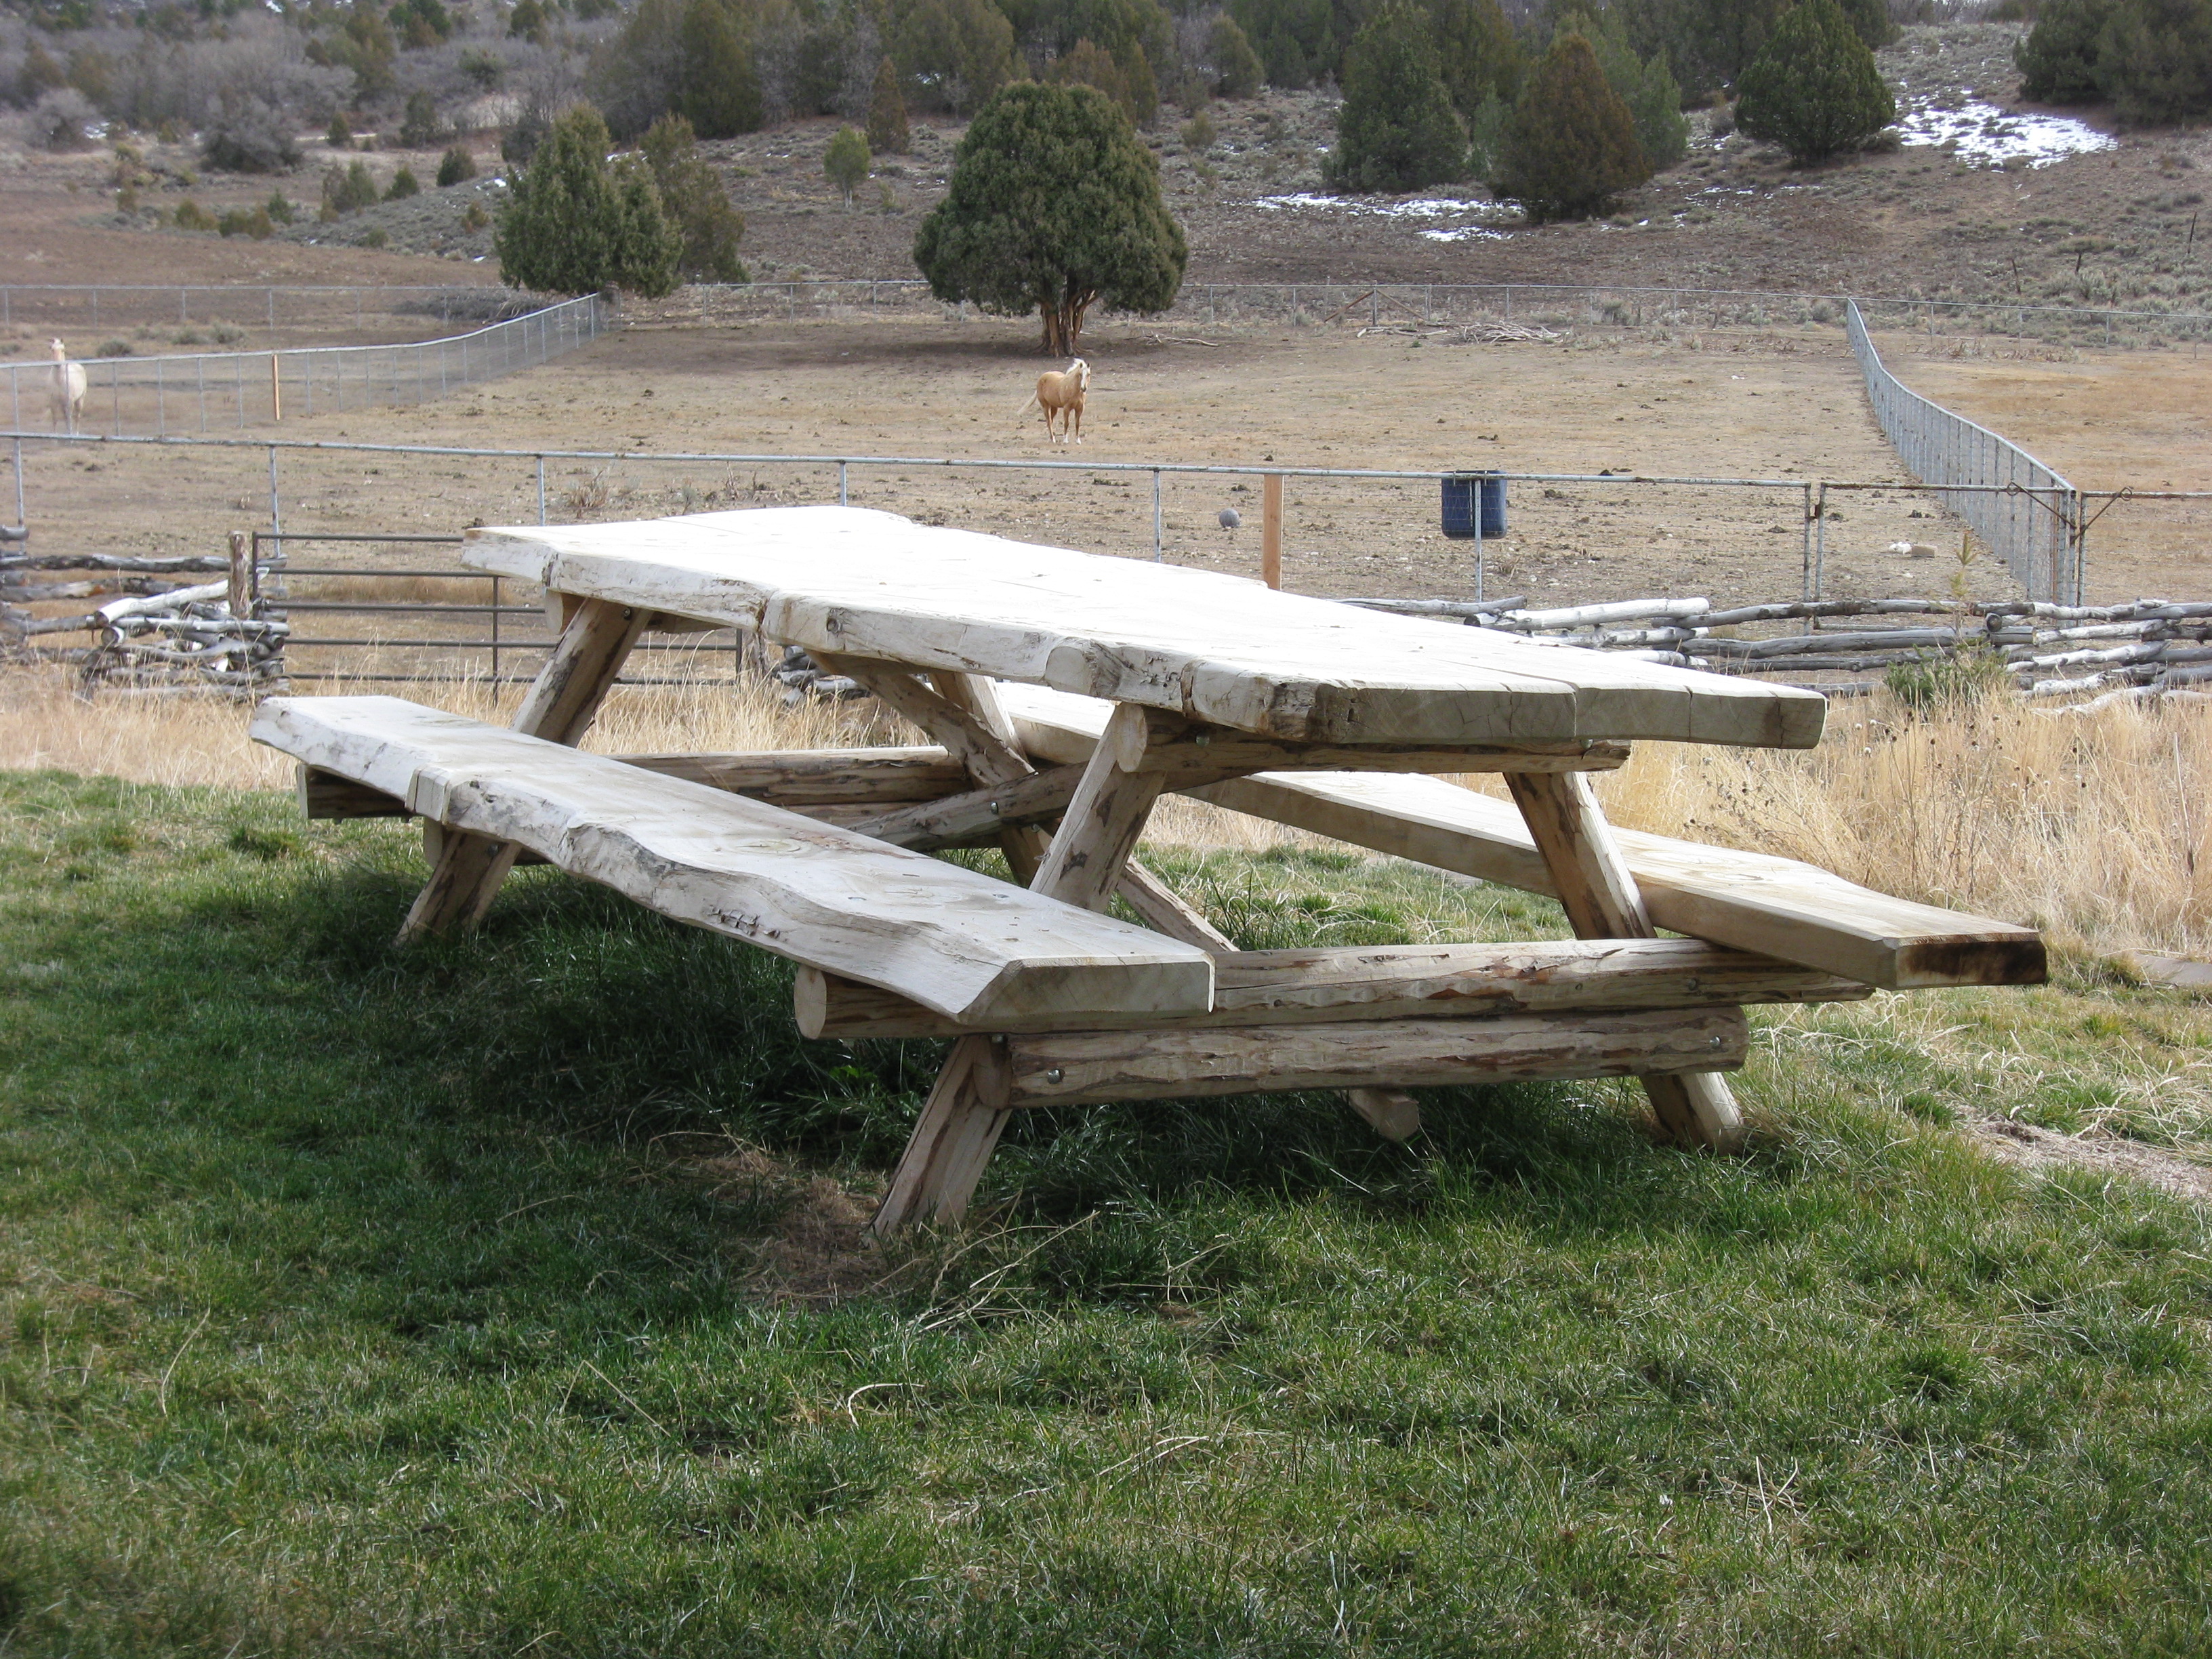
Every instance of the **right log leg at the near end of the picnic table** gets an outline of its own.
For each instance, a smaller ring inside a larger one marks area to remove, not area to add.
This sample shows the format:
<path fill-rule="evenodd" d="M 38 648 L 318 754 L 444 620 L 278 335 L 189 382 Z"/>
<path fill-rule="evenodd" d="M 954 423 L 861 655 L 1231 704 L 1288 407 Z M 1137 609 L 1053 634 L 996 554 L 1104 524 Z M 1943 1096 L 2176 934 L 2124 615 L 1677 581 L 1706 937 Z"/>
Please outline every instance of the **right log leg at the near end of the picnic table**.
<path fill-rule="evenodd" d="M 1597 807 L 1590 779 L 1584 772 L 1506 772 L 1506 787 L 1544 854 L 1575 936 L 1655 938 L 1644 894 L 1628 874 L 1613 825 Z M 1743 1115 L 1719 1073 L 1692 1071 L 1641 1082 L 1652 1115 L 1670 1137 L 1723 1152 L 1743 1141 Z"/>

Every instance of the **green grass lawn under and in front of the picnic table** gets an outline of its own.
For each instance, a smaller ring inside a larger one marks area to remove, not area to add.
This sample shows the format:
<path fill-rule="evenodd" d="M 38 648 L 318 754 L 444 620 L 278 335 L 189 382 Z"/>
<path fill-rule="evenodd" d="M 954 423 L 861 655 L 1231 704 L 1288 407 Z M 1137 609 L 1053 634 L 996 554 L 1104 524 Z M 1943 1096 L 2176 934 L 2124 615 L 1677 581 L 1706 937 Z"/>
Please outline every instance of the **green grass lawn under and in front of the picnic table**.
<path fill-rule="evenodd" d="M 1245 945 L 1544 936 L 1310 854 Z M 2212 1009 L 1770 1013 L 1752 1150 L 1615 1084 L 1035 1113 L 858 1248 L 931 1044 L 279 796 L 0 776 L 0 1652 L 2201 1655 Z"/>

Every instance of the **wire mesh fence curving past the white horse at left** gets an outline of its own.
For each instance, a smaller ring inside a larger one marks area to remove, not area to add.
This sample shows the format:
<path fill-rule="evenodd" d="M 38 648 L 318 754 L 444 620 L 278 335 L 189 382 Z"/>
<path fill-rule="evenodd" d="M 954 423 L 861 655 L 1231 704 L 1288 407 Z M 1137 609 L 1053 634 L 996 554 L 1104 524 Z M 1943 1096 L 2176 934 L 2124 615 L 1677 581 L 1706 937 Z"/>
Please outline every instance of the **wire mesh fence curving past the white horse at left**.
<path fill-rule="evenodd" d="M 42 420 L 108 438 L 241 431 L 274 425 L 288 409 L 312 416 L 438 398 L 573 352 L 613 323 L 597 294 L 555 305 L 509 294 L 507 303 L 531 310 L 431 341 L 80 358 L 71 363 L 84 374 L 80 400 L 64 398 L 55 363 L 9 363 L 4 409 L 18 431 Z"/>

